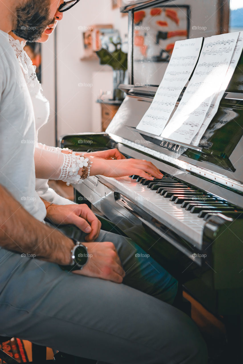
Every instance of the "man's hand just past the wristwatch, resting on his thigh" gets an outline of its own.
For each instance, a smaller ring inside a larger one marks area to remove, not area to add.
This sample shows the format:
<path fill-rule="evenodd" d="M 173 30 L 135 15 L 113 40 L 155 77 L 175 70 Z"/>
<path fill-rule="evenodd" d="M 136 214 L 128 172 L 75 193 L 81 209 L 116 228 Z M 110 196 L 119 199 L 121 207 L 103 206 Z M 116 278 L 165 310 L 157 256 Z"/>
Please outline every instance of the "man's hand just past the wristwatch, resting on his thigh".
<path fill-rule="evenodd" d="M 123 281 L 125 272 L 113 243 L 87 243 L 85 246 L 88 248 L 88 262 L 82 270 L 74 270 L 73 273 L 115 283 Z"/>

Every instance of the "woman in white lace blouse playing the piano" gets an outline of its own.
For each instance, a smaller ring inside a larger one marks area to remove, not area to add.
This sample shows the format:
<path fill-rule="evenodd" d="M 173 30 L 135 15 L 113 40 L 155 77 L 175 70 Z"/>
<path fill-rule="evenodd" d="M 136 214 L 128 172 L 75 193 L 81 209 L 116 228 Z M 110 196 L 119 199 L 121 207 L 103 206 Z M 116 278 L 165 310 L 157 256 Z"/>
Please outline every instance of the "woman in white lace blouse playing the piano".
<path fill-rule="evenodd" d="M 54 24 L 50 24 L 43 32 L 39 40 L 41 43 L 49 39 L 49 36 L 57 26 L 58 20 L 61 19 L 62 13 L 59 13 Z M 48 179 L 61 179 L 70 185 L 70 183 L 81 183 L 82 179 L 89 174 L 102 174 L 107 177 L 137 174 L 151 180 L 153 179 L 152 176 L 156 178 L 163 177 L 152 163 L 138 159 L 125 159 L 117 149 L 86 153 L 85 157 L 82 157 L 81 153 L 74 153 L 68 149 L 49 147 L 37 143 L 38 130 L 47 123 L 49 117 L 49 102 L 42 95 L 42 88 L 36 77 L 34 66 L 23 50 L 26 41 L 11 32 L 9 34 L 9 42 L 19 60 L 34 106 L 36 122 L 35 169 L 36 177 L 38 177 L 36 179 L 36 191 L 40 197 L 57 204 L 70 203 L 69 200 L 63 199 L 49 188 Z"/>

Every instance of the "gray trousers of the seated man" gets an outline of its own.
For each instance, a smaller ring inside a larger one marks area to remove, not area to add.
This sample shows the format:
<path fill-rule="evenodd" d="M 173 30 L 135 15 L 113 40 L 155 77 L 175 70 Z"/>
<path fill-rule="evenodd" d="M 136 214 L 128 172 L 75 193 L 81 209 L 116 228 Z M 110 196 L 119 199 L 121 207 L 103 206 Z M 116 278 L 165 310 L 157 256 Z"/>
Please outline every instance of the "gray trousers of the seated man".
<path fill-rule="evenodd" d="M 0 249 L 0 335 L 112 364 L 207 363 L 194 323 L 164 302 L 173 302 L 174 278 L 127 238 L 101 232 L 97 241 L 115 244 L 123 284 Z"/>

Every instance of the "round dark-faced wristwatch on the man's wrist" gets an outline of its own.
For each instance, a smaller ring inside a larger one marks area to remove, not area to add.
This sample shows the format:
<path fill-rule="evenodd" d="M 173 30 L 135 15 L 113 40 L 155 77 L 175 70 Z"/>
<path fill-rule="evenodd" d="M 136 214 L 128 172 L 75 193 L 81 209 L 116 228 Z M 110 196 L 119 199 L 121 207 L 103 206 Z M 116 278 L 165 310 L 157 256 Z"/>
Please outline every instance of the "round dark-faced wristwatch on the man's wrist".
<path fill-rule="evenodd" d="M 81 270 L 88 262 L 88 248 L 76 239 L 72 239 L 74 247 L 71 250 L 72 263 L 70 265 L 61 265 L 63 270 Z"/>

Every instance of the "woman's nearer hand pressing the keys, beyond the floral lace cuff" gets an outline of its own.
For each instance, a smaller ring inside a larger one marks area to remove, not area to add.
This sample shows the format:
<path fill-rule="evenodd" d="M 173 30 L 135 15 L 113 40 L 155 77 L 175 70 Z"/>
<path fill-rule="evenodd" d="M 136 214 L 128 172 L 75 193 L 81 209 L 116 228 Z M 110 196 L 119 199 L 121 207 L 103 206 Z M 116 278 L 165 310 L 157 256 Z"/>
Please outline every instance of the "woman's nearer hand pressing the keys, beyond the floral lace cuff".
<path fill-rule="evenodd" d="M 100 174 L 106 177 L 123 177 L 136 174 L 138 176 L 150 179 L 162 178 L 163 174 L 151 162 L 141 159 L 120 159 L 106 160 L 92 158 L 93 164 L 90 175 Z"/>

